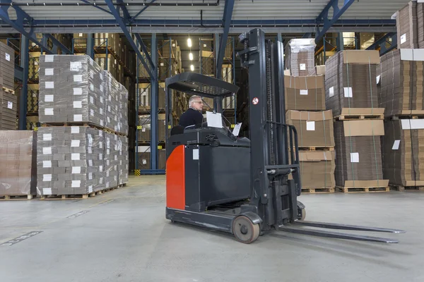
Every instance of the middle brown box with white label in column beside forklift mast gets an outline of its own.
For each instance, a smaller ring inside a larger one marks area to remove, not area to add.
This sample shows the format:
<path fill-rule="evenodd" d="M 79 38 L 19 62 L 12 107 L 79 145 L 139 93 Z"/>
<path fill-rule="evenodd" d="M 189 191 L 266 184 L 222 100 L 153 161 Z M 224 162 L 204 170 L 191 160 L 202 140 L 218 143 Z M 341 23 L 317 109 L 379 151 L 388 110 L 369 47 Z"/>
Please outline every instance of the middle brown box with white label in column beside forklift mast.
<path fill-rule="evenodd" d="M 299 147 L 333 147 L 334 130 L 331 111 L 293 111 L 285 114 L 285 123 L 294 125 Z"/>

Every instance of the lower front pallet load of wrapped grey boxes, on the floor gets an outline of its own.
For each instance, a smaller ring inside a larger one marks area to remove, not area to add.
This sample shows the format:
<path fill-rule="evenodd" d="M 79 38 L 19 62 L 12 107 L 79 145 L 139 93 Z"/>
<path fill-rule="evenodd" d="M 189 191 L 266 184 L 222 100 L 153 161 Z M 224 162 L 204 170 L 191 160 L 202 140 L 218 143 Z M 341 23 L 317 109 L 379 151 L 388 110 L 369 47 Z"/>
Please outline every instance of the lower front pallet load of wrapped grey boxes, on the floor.
<path fill-rule="evenodd" d="M 78 195 L 105 189 L 104 132 L 42 127 L 37 134 L 37 194 Z"/>

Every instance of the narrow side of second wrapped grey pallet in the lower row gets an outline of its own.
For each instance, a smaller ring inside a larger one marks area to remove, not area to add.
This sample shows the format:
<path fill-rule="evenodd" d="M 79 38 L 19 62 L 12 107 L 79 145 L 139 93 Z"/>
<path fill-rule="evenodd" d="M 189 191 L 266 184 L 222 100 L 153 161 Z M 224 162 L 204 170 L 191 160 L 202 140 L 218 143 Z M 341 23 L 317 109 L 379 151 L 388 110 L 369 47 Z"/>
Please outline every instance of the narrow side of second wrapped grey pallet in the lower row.
<path fill-rule="evenodd" d="M 105 133 L 105 186 L 118 185 L 119 142 L 118 135 Z"/>

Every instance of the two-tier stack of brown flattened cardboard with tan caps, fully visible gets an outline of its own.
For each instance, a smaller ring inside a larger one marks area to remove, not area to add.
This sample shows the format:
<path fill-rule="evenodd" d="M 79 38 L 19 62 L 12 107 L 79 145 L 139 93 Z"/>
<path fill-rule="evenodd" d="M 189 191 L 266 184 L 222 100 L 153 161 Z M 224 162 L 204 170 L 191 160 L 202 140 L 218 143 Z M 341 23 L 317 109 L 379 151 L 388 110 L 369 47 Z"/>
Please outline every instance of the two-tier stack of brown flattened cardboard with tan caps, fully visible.
<path fill-rule="evenodd" d="M 334 115 L 336 190 L 388 192 L 382 173 L 380 136 L 384 109 L 378 107 L 379 52 L 339 51 L 326 61 L 326 108 Z"/>

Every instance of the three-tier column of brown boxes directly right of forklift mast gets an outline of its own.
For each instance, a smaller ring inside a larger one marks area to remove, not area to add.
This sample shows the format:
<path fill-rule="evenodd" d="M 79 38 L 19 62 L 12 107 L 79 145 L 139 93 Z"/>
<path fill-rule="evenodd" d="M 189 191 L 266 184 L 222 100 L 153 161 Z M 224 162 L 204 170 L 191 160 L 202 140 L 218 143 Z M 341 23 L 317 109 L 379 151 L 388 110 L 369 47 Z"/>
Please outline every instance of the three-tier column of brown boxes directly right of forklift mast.
<path fill-rule="evenodd" d="M 334 192 L 334 135 L 324 75 L 284 76 L 286 123 L 298 132 L 302 192 Z"/>

